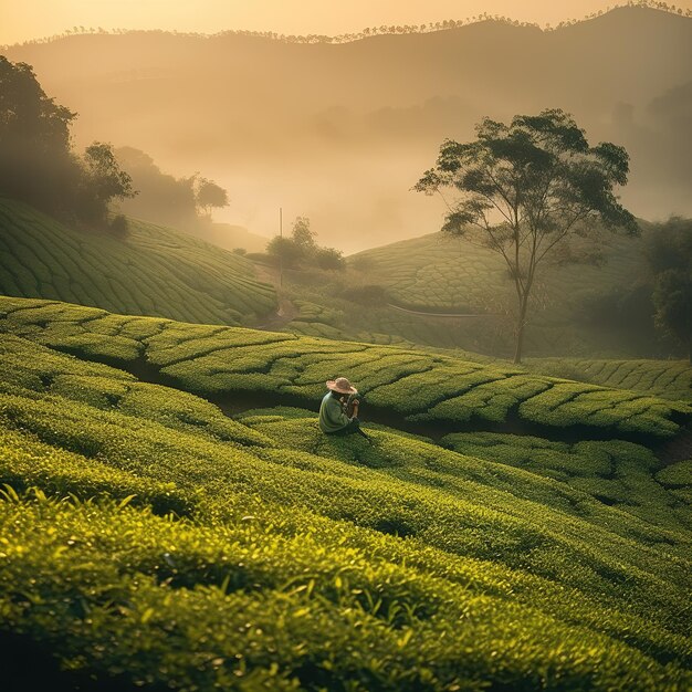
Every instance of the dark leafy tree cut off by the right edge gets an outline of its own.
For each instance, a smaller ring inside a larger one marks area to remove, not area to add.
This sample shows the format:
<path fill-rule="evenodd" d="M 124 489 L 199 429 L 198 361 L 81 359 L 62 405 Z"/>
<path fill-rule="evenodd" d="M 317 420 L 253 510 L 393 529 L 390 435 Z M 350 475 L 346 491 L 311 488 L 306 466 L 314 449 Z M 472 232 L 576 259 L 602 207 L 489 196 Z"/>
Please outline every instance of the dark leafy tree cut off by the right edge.
<path fill-rule="evenodd" d="M 647 259 L 654 274 L 656 325 L 685 346 L 692 364 L 692 220 L 673 217 L 659 227 Z"/>

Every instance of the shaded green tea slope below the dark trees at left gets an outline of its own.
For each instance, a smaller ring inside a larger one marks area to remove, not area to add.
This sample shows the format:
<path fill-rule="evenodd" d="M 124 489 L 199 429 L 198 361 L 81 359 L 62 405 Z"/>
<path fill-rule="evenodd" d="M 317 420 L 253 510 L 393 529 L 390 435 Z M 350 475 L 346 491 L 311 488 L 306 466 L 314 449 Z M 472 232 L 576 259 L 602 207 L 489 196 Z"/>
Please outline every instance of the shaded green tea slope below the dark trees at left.
<path fill-rule="evenodd" d="M 192 237 L 134 219 L 124 238 L 80 231 L 2 198 L 0 293 L 207 324 L 276 306 L 250 262 Z"/>

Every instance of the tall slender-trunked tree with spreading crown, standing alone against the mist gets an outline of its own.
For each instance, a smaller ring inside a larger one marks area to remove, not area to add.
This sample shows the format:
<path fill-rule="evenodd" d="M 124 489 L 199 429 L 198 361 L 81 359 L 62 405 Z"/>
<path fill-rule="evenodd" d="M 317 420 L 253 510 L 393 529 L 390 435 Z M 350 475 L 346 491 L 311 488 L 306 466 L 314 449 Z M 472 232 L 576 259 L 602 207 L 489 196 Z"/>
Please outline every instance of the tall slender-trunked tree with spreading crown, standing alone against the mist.
<path fill-rule="evenodd" d="M 478 138 L 466 144 L 447 139 L 436 167 L 413 189 L 460 193 L 448 203 L 442 230 L 480 242 L 505 261 L 517 300 L 514 363 L 521 363 L 538 268 L 560 244 L 594 239 L 595 220 L 608 230 L 639 232 L 614 192 L 627 184 L 629 157 L 611 143 L 590 147 L 560 109 L 516 115 L 508 125 L 484 118 L 475 132 Z"/>

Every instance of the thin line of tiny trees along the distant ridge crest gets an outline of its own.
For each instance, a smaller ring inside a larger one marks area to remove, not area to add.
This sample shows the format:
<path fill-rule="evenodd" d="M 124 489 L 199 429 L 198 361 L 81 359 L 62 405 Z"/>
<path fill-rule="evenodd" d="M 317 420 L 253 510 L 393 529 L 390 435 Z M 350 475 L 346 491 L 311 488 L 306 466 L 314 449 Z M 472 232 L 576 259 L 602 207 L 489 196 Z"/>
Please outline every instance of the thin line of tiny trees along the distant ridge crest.
<path fill-rule="evenodd" d="M 600 17 L 601 14 L 609 12 L 610 10 L 616 10 L 618 8 L 631 8 L 631 7 L 641 7 L 641 8 L 651 8 L 656 10 L 661 10 L 663 12 L 670 12 L 674 14 L 680 14 L 684 17 L 692 17 L 692 10 L 679 8 L 675 4 L 668 4 L 667 2 L 657 2 L 656 0 L 629 0 L 628 2 L 616 3 L 612 6 L 608 6 L 605 10 L 598 10 L 596 12 L 590 12 L 586 14 L 581 19 L 569 19 L 559 22 L 555 27 L 552 27 L 549 23 L 543 27 L 544 31 L 553 31 L 554 29 L 563 29 L 564 27 L 569 27 L 572 24 L 576 24 L 578 22 L 594 19 L 596 17 Z M 329 36 L 326 34 L 284 34 L 277 33 L 274 31 L 250 31 L 250 30 L 228 30 L 220 31 L 212 34 L 206 34 L 200 32 L 191 32 L 191 31 L 164 31 L 164 30 L 146 30 L 144 33 L 171 33 L 175 35 L 182 35 L 189 38 L 216 38 L 223 35 L 243 35 L 243 36 L 255 36 L 262 39 L 271 39 L 274 41 L 283 41 L 285 43 L 348 43 L 350 41 L 358 41 L 360 39 L 367 39 L 368 36 L 382 35 L 382 34 L 402 34 L 402 33 L 428 33 L 431 31 L 444 31 L 448 29 L 457 29 L 458 27 L 465 27 L 468 24 L 472 24 L 474 22 L 482 21 L 497 21 L 504 22 L 507 24 L 513 24 L 515 27 L 535 27 L 537 29 L 541 25 L 537 22 L 520 22 L 518 20 L 511 19 L 510 17 L 505 17 L 503 14 L 489 14 L 487 12 L 481 12 L 479 14 L 474 14 L 473 17 L 466 17 L 465 19 L 445 19 L 439 22 L 428 22 L 422 24 L 381 24 L 379 27 L 366 27 L 359 32 L 354 33 L 343 33 L 336 36 Z M 141 30 L 129 30 L 129 29 L 112 29 L 107 30 L 103 27 L 73 27 L 72 29 L 67 29 L 64 33 L 53 34 L 52 36 L 46 36 L 43 39 L 32 39 L 31 41 L 23 41 L 20 45 L 32 45 L 36 43 L 49 43 L 51 41 L 56 41 L 59 39 L 64 39 L 71 35 L 78 34 L 123 34 L 123 33 L 143 33 Z M 9 44 L 0 46 L 0 49 L 8 49 Z"/>

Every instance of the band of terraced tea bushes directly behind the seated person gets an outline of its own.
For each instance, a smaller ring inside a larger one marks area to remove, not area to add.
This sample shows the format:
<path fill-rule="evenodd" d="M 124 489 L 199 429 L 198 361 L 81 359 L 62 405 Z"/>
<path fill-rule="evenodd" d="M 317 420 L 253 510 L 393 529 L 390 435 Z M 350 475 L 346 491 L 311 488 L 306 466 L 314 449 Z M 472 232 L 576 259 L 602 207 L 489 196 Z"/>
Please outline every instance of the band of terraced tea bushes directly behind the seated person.
<path fill-rule="evenodd" d="M 252 329 L 126 317 L 61 303 L 0 298 L 2 331 L 92 359 L 148 367 L 205 396 L 263 392 L 266 401 L 316 406 L 336 375 L 367 406 L 447 432 L 505 423 L 545 430 L 670 437 L 692 406 L 444 355 Z"/>

